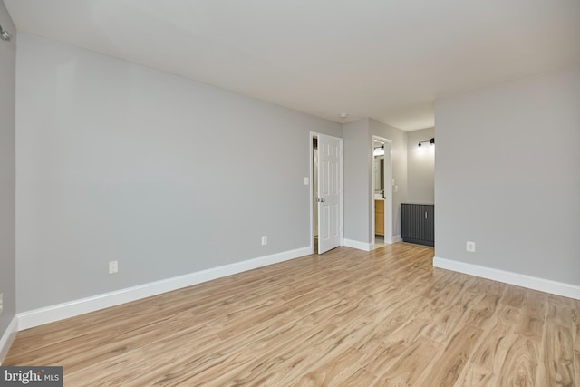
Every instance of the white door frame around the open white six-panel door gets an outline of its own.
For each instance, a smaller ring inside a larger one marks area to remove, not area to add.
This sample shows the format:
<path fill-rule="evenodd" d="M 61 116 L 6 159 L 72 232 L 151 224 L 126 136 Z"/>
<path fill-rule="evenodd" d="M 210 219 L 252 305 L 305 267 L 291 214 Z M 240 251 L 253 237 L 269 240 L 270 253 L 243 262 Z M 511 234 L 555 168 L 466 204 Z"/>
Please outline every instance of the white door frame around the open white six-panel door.
<path fill-rule="evenodd" d="M 310 135 L 308 136 L 308 140 L 309 140 L 309 145 L 308 145 L 308 165 L 310 166 L 310 169 L 308 171 L 308 181 L 309 181 L 309 186 L 310 188 L 308 189 L 308 202 L 310 203 L 310 254 L 318 254 L 318 252 L 314 252 L 314 181 L 313 181 L 313 170 L 314 170 L 314 146 L 313 146 L 313 140 L 314 138 L 318 138 L 319 136 L 327 136 L 327 137 L 332 137 L 333 139 L 336 139 L 340 142 L 340 161 L 339 161 L 339 178 L 341 179 L 340 183 L 339 183 L 339 187 L 340 187 L 340 194 L 339 194 L 339 208 L 338 208 L 338 212 L 339 212 L 339 231 L 340 231 L 340 245 L 339 246 L 343 246 L 344 244 L 344 214 L 343 214 L 343 205 L 344 205 L 344 189 L 343 189 L 343 183 L 344 183 L 344 176 L 343 176 L 343 139 L 340 137 L 336 137 L 336 136 L 332 136 L 329 134 L 325 134 L 325 133 L 319 133 L 316 131 L 311 131 Z M 320 216 L 318 217 L 318 222 L 320 222 Z M 320 236 L 319 236 L 320 237 Z"/>

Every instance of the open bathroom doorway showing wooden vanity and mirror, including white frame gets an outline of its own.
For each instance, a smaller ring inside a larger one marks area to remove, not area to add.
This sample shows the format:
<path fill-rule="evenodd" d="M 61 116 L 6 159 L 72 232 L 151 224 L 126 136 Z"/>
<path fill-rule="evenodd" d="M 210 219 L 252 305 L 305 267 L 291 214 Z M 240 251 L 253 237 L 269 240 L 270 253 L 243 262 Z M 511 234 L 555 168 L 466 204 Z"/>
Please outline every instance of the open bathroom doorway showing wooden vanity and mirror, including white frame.
<path fill-rule="evenodd" d="M 372 136 L 372 242 L 392 243 L 391 140 Z"/>

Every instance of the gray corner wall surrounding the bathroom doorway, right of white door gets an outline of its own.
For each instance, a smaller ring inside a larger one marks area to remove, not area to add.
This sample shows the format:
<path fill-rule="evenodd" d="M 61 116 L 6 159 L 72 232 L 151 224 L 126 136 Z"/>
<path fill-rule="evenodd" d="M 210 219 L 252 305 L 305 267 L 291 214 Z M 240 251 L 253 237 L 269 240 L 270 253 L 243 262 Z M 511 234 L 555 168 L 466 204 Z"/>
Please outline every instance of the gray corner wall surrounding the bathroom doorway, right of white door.
<path fill-rule="evenodd" d="M 405 131 L 372 119 L 343 125 L 344 237 L 371 243 L 372 236 L 372 136 L 392 140 L 393 235 L 401 234 L 401 202 L 407 198 L 407 135 Z"/>

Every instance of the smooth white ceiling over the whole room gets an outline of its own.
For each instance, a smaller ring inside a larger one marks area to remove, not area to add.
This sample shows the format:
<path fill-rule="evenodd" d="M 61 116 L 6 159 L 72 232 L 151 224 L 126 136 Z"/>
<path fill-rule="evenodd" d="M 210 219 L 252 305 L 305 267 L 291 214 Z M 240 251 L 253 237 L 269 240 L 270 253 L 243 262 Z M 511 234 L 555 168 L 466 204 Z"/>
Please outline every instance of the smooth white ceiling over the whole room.
<path fill-rule="evenodd" d="M 579 0 L 4 2 L 20 31 L 405 131 L 436 98 L 580 63 Z"/>

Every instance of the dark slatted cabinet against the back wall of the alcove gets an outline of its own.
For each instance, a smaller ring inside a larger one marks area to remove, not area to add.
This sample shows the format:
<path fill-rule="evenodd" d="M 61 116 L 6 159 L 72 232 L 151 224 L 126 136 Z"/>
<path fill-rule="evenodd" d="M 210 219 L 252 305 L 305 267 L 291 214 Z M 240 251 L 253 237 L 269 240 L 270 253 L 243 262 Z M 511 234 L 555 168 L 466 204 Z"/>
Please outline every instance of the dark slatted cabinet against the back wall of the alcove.
<path fill-rule="evenodd" d="M 435 206 L 401 204 L 401 238 L 403 242 L 435 246 Z"/>

